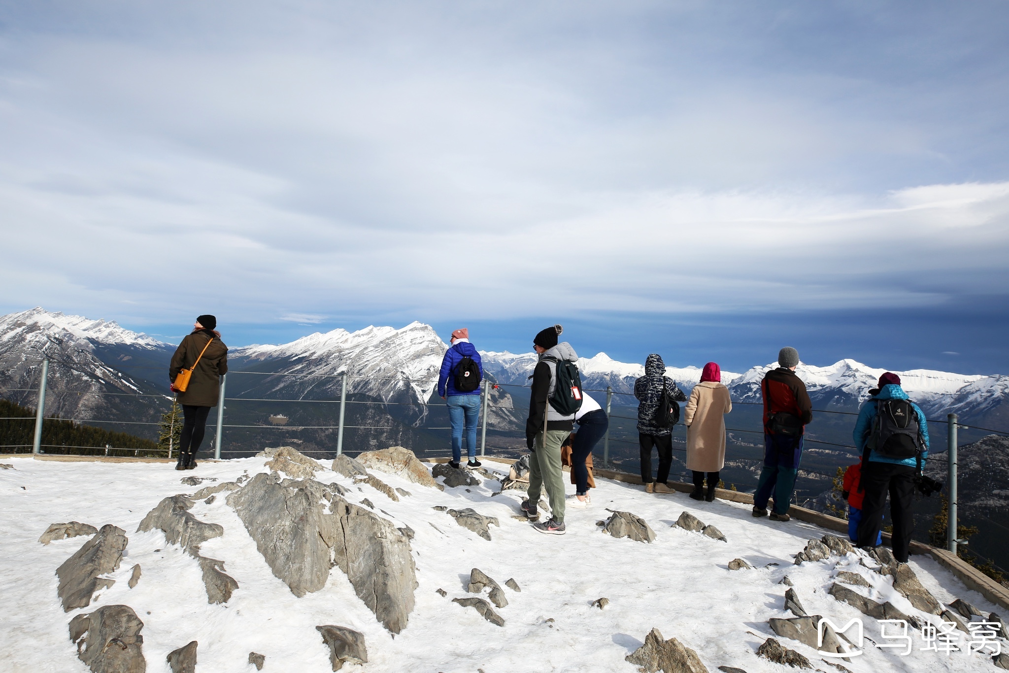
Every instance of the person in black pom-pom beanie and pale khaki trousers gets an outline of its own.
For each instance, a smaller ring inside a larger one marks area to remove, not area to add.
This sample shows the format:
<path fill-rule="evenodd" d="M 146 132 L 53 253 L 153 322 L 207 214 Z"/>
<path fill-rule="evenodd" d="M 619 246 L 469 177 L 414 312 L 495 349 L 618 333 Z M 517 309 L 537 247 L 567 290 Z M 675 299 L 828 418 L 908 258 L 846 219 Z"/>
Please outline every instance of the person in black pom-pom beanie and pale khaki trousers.
<path fill-rule="evenodd" d="M 534 525 L 540 533 L 563 535 L 564 527 L 564 477 L 561 471 L 561 445 L 574 428 L 574 414 L 565 416 L 550 404 L 557 384 L 557 362 L 576 362 L 578 354 L 566 341 L 557 343 L 563 328 L 554 325 L 542 330 L 533 339 L 540 360 L 533 369 L 533 385 L 529 398 L 529 418 L 526 420 L 526 444 L 533 452 L 529 460 L 529 499 L 523 500 L 522 510 L 530 519 L 539 519 L 537 503 L 546 487 L 550 497 L 552 517 L 547 522 Z M 544 427 L 546 423 L 546 427 Z"/>

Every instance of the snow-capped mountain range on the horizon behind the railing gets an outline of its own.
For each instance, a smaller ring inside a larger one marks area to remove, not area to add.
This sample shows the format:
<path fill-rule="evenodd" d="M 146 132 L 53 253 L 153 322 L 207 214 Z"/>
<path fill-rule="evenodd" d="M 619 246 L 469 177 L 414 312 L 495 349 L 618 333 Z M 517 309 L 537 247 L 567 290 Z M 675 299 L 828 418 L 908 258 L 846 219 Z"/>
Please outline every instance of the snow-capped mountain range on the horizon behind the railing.
<path fill-rule="evenodd" d="M 430 325 L 414 322 L 403 328 L 367 327 L 356 332 L 343 329 L 315 333 L 281 345 L 233 348 L 228 391 L 231 395 L 287 400 L 339 397 L 340 374 L 348 373 L 348 392 L 389 403 L 427 403 L 435 395 L 438 369 L 448 345 Z M 167 360 L 175 346 L 124 329 L 114 322 L 65 316 L 41 308 L 0 317 L 0 385 L 4 395 L 31 403 L 37 386 L 42 353 L 51 360 L 49 389 L 63 392 L 164 394 Z M 488 377 L 507 384 L 494 391 L 491 404 L 513 406 L 509 390 L 528 383 L 535 367 L 535 353 L 481 351 Z M 620 362 L 605 353 L 579 359 L 585 387 L 631 394 L 634 381 L 644 374 L 639 363 Z M 758 365 L 743 373 L 722 372 L 739 402 L 759 401 L 759 383 L 776 363 Z M 257 372 L 239 374 L 239 371 Z M 685 392 L 696 384 L 700 368 L 668 367 L 666 373 Z M 868 398 L 885 370 L 852 359 L 826 366 L 799 364 L 802 378 L 820 409 L 851 411 Z M 265 376 L 266 372 L 301 374 Z M 926 414 L 956 412 L 963 422 L 987 427 L 1009 427 L 1009 376 L 969 375 L 926 369 L 896 372 L 904 388 Z M 306 376 L 304 374 L 314 374 Z M 322 376 L 320 376 L 322 375 Z M 87 418 L 112 410 L 108 396 L 63 396 L 47 413 Z M 614 404 L 633 405 L 628 398 Z M 122 405 L 115 405 L 121 408 Z M 48 410 L 47 405 L 47 410 Z M 424 409 L 412 423 L 424 418 Z M 524 416 L 522 410 L 500 416 L 498 429 L 509 429 Z M 507 417 L 507 418 L 506 418 Z M 118 418 L 115 417 L 115 418 Z M 493 417 L 491 424 L 493 425 Z"/>

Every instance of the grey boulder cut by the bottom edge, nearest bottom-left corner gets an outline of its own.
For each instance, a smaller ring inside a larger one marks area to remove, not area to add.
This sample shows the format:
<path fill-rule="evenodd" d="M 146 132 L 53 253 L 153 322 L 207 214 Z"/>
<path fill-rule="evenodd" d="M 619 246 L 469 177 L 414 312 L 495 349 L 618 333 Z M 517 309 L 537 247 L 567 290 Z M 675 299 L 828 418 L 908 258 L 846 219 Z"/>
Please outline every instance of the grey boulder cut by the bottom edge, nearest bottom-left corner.
<path fill-rule="evenodd" d="M 71 620 L 70 640 L 93 673 L 144 673 L 142 629 L 129 605 L 105 605 Z"/>

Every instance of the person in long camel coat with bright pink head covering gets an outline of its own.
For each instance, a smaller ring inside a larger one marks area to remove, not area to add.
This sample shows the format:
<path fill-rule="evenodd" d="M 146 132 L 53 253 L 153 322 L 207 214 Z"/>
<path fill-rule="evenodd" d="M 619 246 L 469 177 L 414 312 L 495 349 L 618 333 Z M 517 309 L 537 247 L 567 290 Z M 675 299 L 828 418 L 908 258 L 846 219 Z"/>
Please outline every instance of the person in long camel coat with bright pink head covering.
<path fill-rule="evenodd" d="M 700 382 L 687 402 L 687 469 L 693 471 L 694 489 L 690 497 L 710 502 L 718 484 L 718 472 L 725 464 L 725 414 L 733 411 L 728 388 L 721 384 L 721 368 L 714 362 L 704 365 Z M 707 473 L 707 492 L 703 490 Z"/>

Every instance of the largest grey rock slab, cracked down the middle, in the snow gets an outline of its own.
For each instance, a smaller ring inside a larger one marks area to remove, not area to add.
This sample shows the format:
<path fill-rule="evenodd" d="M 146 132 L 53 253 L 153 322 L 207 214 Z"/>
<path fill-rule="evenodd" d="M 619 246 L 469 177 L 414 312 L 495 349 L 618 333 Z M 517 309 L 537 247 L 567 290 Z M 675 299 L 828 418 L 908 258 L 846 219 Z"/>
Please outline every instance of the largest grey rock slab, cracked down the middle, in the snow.
<path fill-rule="evenodd" d="M 417 571 L 410 541 L 390 522 L 348 502 L 330 485 L 313 479 L 277 483 L 263 473 L 228 495 L 228 504 L 292 593 L 318 591 L 336 565 L 386 629 L 400 633 L 407 626 Z"/>

